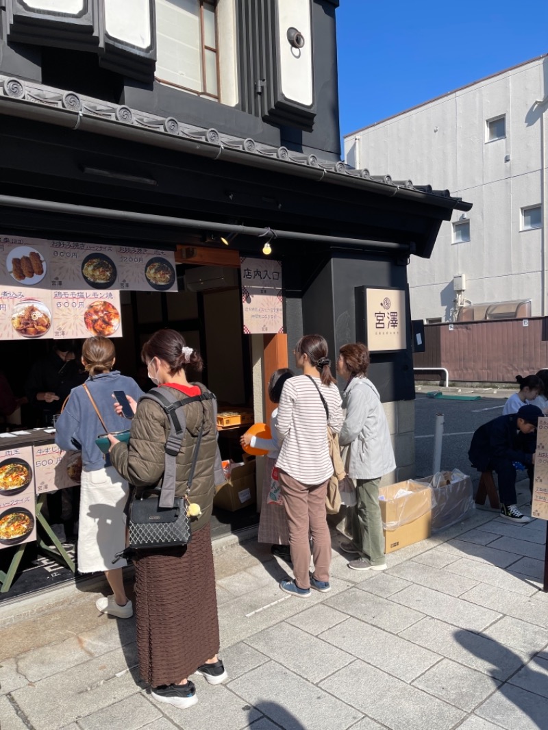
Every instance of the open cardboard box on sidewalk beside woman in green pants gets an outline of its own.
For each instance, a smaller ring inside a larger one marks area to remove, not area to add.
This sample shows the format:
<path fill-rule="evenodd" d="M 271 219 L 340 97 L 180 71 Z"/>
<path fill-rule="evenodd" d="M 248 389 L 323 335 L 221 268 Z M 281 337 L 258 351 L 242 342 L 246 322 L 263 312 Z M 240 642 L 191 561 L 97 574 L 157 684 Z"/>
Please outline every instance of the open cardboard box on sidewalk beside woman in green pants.
<path fill-rule="evenodd" d="M 395 499 L 400 489 L 413 492 Z M 393 553 L 432 534 L 432 490 L 413 482 L 398 482 L 378 490 L 384 532 L 384 552 Z"/>

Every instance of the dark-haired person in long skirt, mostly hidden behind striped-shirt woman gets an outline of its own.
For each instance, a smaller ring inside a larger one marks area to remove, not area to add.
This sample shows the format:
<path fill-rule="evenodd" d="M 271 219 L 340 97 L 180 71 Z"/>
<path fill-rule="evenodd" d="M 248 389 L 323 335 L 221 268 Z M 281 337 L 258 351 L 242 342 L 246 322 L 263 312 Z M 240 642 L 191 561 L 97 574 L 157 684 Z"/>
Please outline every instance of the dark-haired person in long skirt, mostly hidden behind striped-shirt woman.
<path fill-rule="evenodd" d="M 283 383 L 289 377 L 293 377 L 294 373 L 288 368 L 281 368 L 273 372 L 268 383 L 268 397 L 275 404 L 280 402 Z M 278 434 L 276 433 L 276 416 L 278 408 L 275 408 L 270 416 L 270 432 L 271 439 L 259 439 L 251 434 L 243 434 L 240 439 L 242 446 L 251 446 L 256 449 L 264 449 L 268 451 L 267 463 L 265 464 L 265 472 L 262 479 L 262 500 L 261 500 L 261 516 L 259 518 L 259 542 L 270 542 L 272 545 L 273 555 L 280 556 L 286 560 L 291 559 L 289 553 L 289 529 L 287 526 L 286 510 L 283 509 L 283 503 L 268 502 L 268 495 L 273 479 L 273 469 L 276 459 L 280 453 L 278 445 Z"/>

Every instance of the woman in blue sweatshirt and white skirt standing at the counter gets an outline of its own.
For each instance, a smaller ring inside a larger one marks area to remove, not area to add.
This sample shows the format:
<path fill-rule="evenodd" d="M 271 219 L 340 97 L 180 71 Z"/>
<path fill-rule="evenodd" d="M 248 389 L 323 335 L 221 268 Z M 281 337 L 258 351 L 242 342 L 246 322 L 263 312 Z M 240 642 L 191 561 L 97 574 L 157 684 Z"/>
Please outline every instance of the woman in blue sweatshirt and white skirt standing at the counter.
<path fill-rule="evenodd" d="M 70 393 L 56 423 L 56 444 L 64 450 L 82 451 L 78 572 L 104 571 L 113 596 L 100 598 L 96 602 L 97 609 L 118 618 L 130 618 L 133 606 L 126 596 L 122 577 L 126 561 L 121 561 L 115 569 L 112 564 L 116 553 L 126 546 L 126 517 L 123 510 L 129 485 L 111 466 L 110 457 L 104 456 L 95 443 L 104 428 L 91 399 L 104 425 L 112 433 L 129 427 L 129 422 L 115 413 L 114 391 L 123 391 L 136 401 L 142 396 L 142 391 L 131 377 L 124 377 L 118 370 L 113 370 L 114 363 L 112 340 L 101 336 L 85 340 L 82 364 L 89 377 L 84 385 L 79 385 Z"/>

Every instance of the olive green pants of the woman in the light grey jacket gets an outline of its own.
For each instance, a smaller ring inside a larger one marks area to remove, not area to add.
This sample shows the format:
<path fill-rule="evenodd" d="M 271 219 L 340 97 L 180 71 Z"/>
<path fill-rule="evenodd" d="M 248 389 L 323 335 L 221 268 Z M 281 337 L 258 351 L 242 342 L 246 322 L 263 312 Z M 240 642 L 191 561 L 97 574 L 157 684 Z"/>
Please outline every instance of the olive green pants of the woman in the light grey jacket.
<path fill-rule="evenodd" d="M 357 479 L 357 504 L 351 508 L 352 542 L 371 565 L 384 565 L 384 535 L 378 504 L 378 479 Z"/>

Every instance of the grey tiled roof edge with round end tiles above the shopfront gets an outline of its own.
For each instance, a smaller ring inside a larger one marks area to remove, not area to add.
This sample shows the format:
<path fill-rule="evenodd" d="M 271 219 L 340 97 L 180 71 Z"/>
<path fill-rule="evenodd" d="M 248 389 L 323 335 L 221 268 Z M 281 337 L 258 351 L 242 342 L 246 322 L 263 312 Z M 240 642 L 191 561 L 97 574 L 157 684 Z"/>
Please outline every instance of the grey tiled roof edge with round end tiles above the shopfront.
<path fill-rule="evenodd" d="M 7 109 L 6 104 L 9 104 Z M 406 198 L 422 200 L 429 204 L 441 205 L 457 210 L 470 210 L 471 205 L 460 198 L 452 198 L 449 191 L 435 191 L 430 185 L 414 185 L 411 180 L 392 180 L 389 175 L 381 177 L 371 175 L 367 169 L 354 169 L 342 161 L 322 160 L 315 154 L 301 154 L 287 147 L 274 147 L 256 142 L 251 137 L 235 137 L 222 134 L 215 128 L 205 128 L 184 123 L 173 117 L 160 117 L 134 109 L 123 104 L 111 104 L 100 99 L 79 95 L 73 91 L 45 86 L 34 81 L 7 77 L 0 74 L 0 113 L 9 113 L 26 118 L 41 118 L 50 123 L 61 123 L 59 116 L 64 117 L 63 126 L 74 130 L 90 129 L 89 120 L 99 120 L 110 127 L 100 129 L 94 125 L 90 131 L 103 134 L 114 134 L 117 137 L 132 138 L 131 131 L 146 131 L 156 139 L 150 138 L 151 144 L 172 147 L 172 142 L 180 140 L 181 151 L 204 154 L 214 159 L 229 156 L 231 161 L 240 164 L 261 166 L 261 160 L 275 161 L 279 164 L 279 172 L 294 174 L 296 168 L 304 168 L 316 179 L 326 182 L 367 188 L 369 191 L 391 196 L 399 193 Z M 69 126 L 67 120 L 73 118 L 74 124 Z M 118 129 L 113 131 L 112 127 Z M 125 132 L 124 132 L 125 130 Z M 162 145 L 157 137 L 170 140 L 169 145 Z M 232 155 L 229 153 L 236 153 Z M 284 169 L 284 167 L 286 169 Z M 293 168 L 293 171 L 292 169 Z M 319 175 L 319 177 L 317 177 Z"/>

